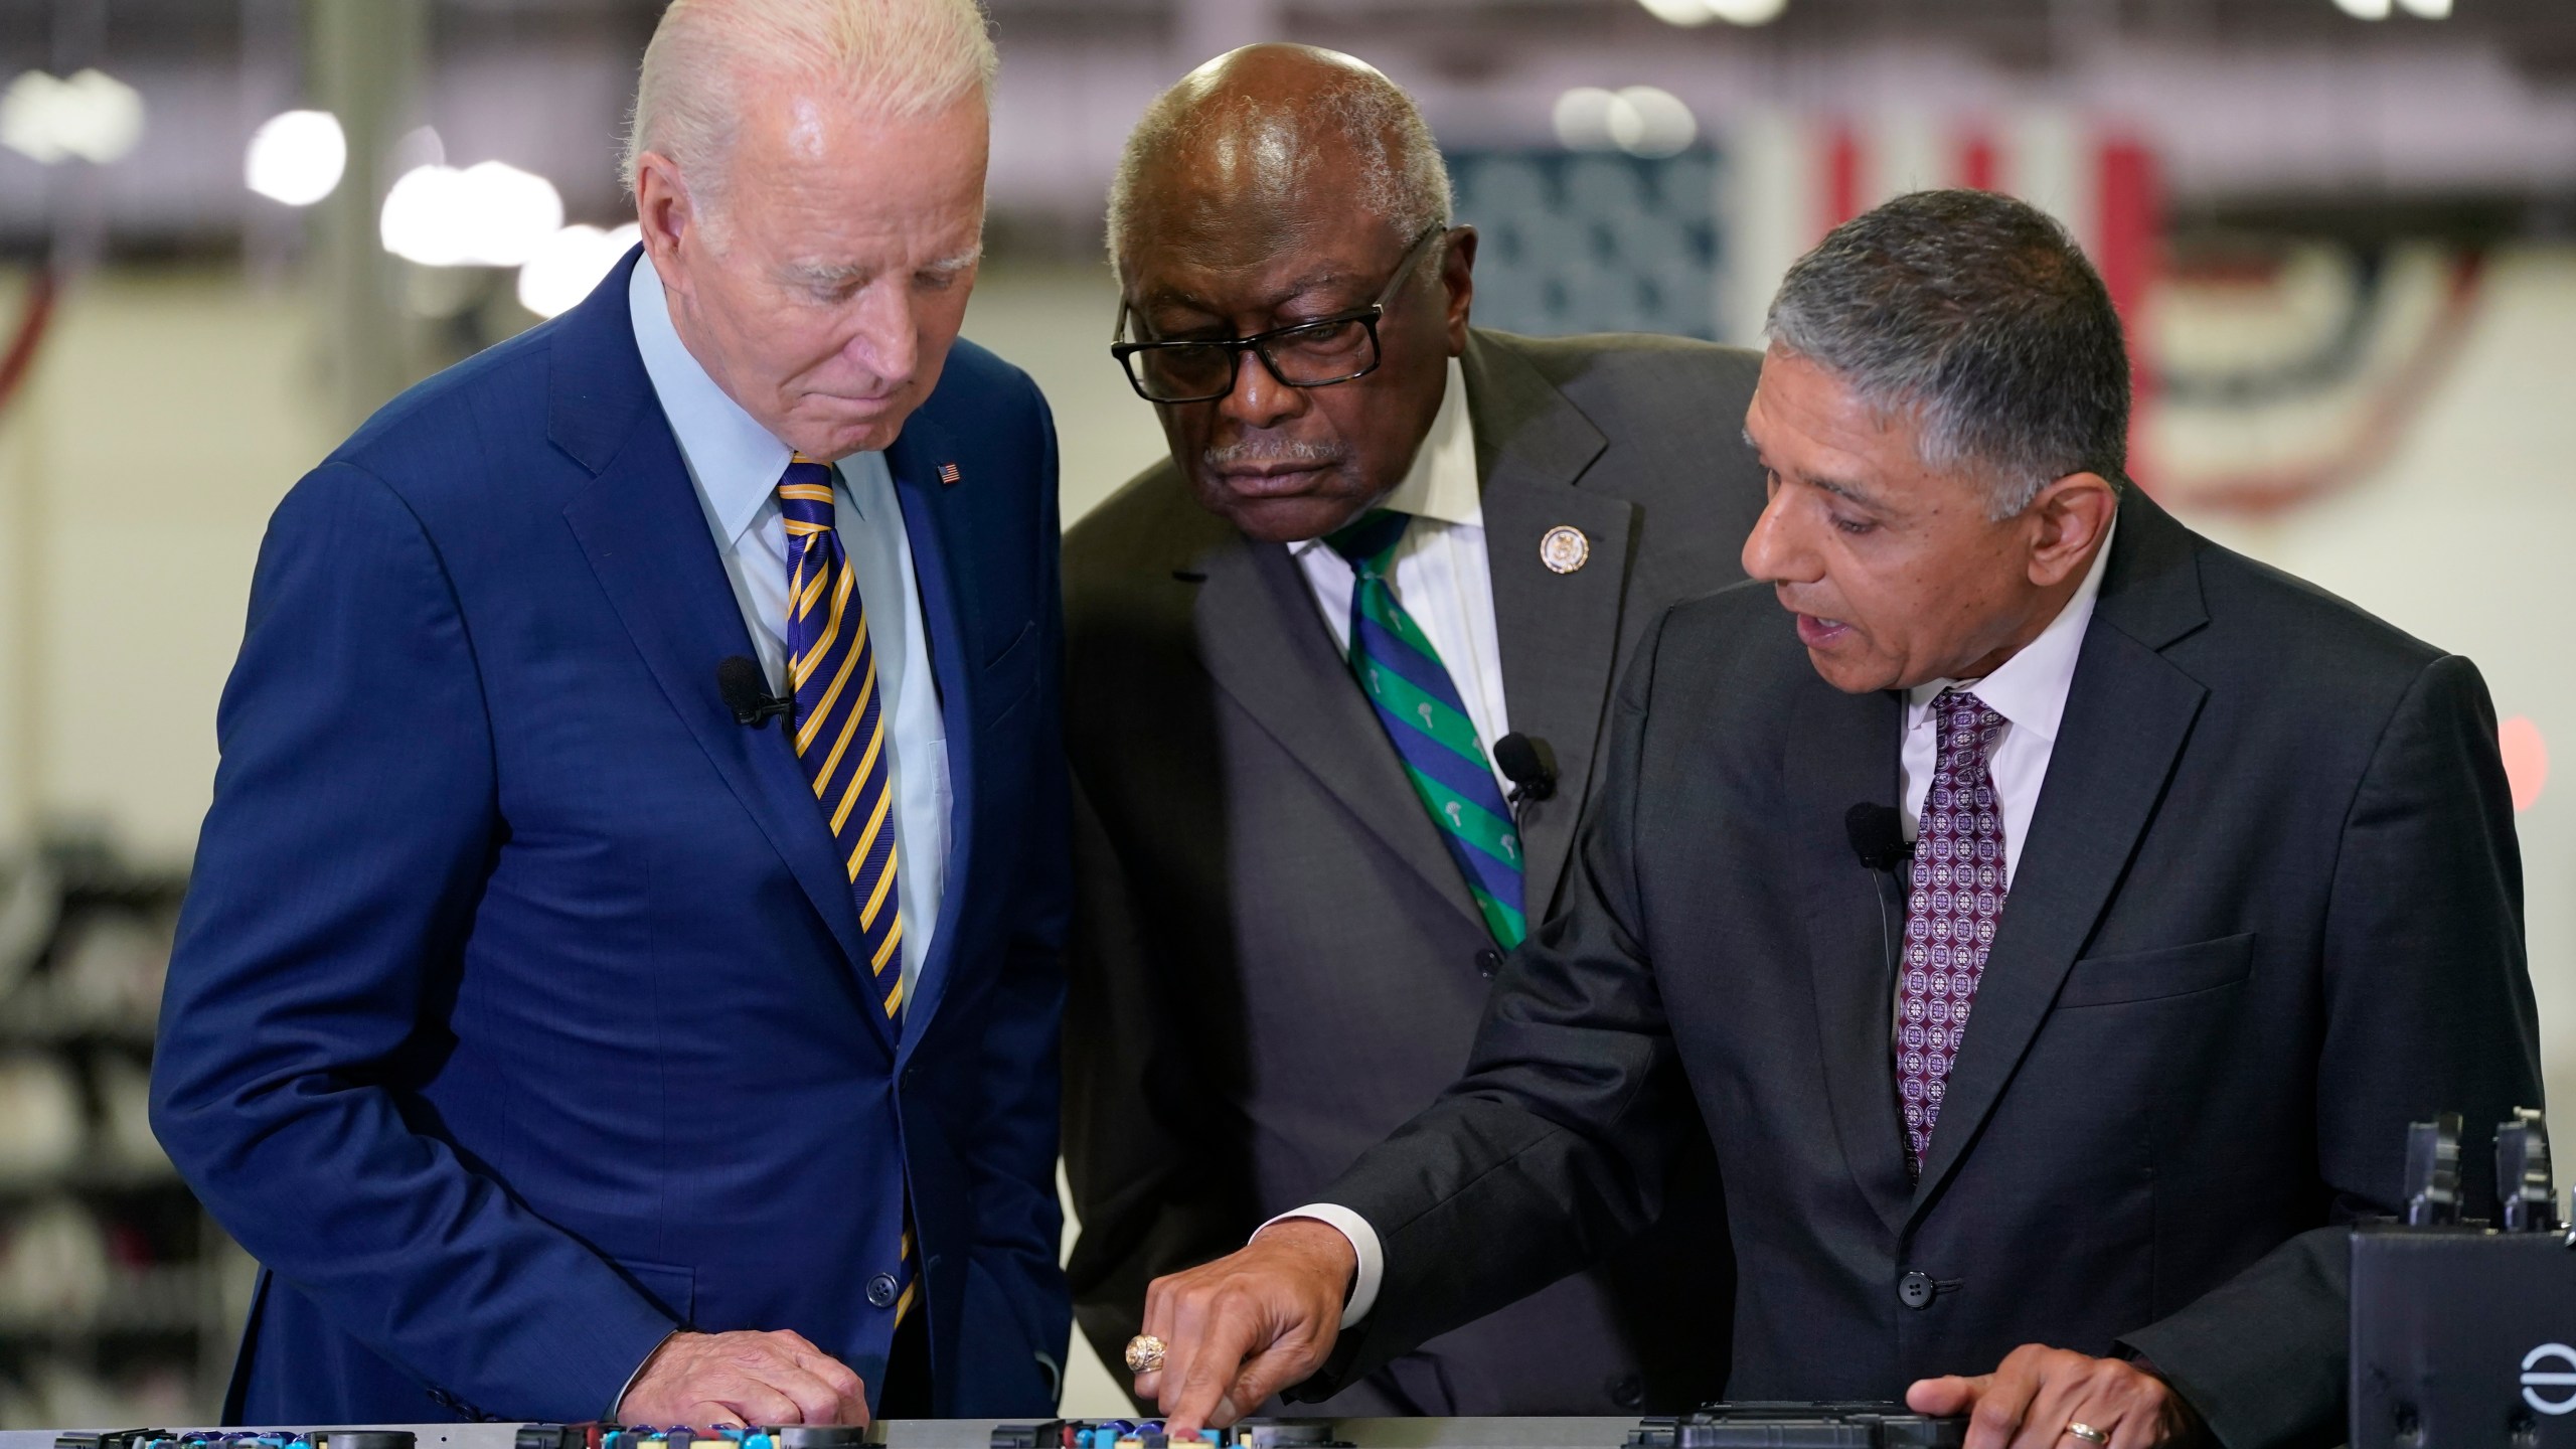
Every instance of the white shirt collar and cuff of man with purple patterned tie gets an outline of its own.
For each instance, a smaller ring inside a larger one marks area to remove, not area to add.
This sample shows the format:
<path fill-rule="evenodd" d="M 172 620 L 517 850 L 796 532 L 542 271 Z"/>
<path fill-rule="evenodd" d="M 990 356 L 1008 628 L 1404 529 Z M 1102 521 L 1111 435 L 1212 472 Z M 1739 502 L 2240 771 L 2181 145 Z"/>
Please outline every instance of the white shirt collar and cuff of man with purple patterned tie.
<path fill-rule="evenodd" d="M 1922 820 L 1924 812 L 1924 797 L 1932 794 L 1932 748 L 1940 737 L 1940 730 L 1932 722 L 1932 699 L 1950 686 L 1965 686 L 1986 701 L 1986 709 L 2004 717 L 2004 730 L 1986 755 L 1986 773 L 1994 779 L 1996 794 L 2004 797 L 2007 892 L 2012 890 L 2012 882 L 2022 877 L 2022 835 L 2030 833 L 2030 815 L 2040 804 L 2040 784 L 2048 779 L 2048 755 L 2058 748 L 2058 719 L 2066 714 L 2066 691 L 2074 688 L 2076 681 L 2076 655 L 2084 652 L 2084 629 L 2092 624 L 2094 601 L 2102 596 L 2102 567 L 2110 562 L 2110 547 L 2117 531 L 2120 529 L 2115 523 L 2112 536 L 2105 536 L 2102 547 L 2094 549 L 2092 567 L 2084 570 L 2084 583 L 2079 583 L 2076 593 L 2063 608 L 2058 608 L 2058 616 L 2048 621 L 2048 629 L 2040 629 L 2038 639 L 2022 645 L 2022 650 L 1996 665 L 1991 676 L 1981 681 L 1940 678 L 1906 691 L 1906 732 L 1899 745 L 1899 792 L 1906 802 L 1906 841 L 1914 838 L 1917 820 Z M 2004 910 L 2012 910 L 2009 897 Z M 1386 1245 L 1378 1243 L 1378 1230 L 1370 1227 L 1358 1212 L 1332 1201 L 1306 1204 L 1293 1212 L 1283 1212 L 1270 1222 L 1288 1217 L 1314 1217 L 1316 1222 L 1329 1222 L 1342 1232 L 1342 1238 L 1350 1240 L 1358 1271 L 1350 1281 L 1350 1302 L 1342 1305 L 1342 1328 L 1368 1318 L 1368 1310 L 1378 1305 L 1378 1284 L 1386 1279 Z M 1270 1222 L 1262 1222 L 1262 1227 L 1270 1227 Z M 1260 1238 L 1260 1227 L 1255 1227 L 1252 1235 Z"/>

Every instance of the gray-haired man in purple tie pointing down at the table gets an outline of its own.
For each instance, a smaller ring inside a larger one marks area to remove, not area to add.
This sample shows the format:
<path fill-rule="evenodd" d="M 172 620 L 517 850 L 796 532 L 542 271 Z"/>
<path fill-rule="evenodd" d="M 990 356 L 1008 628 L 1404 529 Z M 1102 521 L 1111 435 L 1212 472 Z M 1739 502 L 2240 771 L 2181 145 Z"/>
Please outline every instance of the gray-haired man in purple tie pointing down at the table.
<path fill-rule="evenodd" d="M 2478 670 L 2120 487 L 2063 229 L 1891 201 L 1770 330 L 1759 583 L 1638 647 L 1468 1075 L 1327 1222 L 1154 1284 L 1175 1439 L 1589 1261 L 1710 1140 L 1736 1397 L 2334 1444 L 2342 1225 L 2409 1119 L 2540 1101 Z"/>

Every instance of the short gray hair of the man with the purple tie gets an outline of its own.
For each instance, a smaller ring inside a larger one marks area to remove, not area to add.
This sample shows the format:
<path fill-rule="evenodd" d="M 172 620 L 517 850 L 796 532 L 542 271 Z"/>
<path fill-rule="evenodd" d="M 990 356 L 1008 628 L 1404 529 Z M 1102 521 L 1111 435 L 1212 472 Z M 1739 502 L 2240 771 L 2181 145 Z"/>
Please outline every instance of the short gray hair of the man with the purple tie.
<path fill-rule="evenodd" d="M 2050 482 L 2128 467 L 2128 348 L 2102 276 L 2053 217 L 1917 191 L 1798 258 L 1765 335 L 1922 423 L 1922 462 L 1986 474 L 2012 518 Z"/>

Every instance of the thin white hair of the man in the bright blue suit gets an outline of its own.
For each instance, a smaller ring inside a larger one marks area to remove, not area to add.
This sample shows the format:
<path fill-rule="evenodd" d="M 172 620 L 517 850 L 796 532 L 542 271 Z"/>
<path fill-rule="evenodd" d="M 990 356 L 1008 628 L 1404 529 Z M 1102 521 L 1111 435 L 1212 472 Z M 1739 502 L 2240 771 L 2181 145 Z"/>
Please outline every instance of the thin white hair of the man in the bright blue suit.
<path fill-rule="evenodd" d="M 744 95 L 809 83 L 914 119 L 979 95 L 999 57 L 979 0 L 672 0 L 644 46 L 621 178 L 665 155 L 701 204 L 724 191 Z"/>

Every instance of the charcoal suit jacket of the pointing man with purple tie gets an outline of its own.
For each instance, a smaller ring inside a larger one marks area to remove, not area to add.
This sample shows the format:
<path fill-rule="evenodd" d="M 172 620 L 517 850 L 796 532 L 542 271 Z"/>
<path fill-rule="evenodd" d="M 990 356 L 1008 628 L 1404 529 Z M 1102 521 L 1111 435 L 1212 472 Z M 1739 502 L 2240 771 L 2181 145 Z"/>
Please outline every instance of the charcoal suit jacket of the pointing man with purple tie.
<path fill-rule="evenodd" d="M 1896 804 L 1899 730 L 1767 588 L 1664 616 L 1473 1065 L 1321 1194 L 1386 1279 L 1301 1392 L 1600 1258 L 1705 1140 L 1731 1397 L 1899 1397 L 2040 1341 L 2146 1356 L 2228 1449 L 2339 1441 L 2334 1225 L 2398 1207 L 2409 1119 L 2540 1101 L 2476 668 L 2128 490 L 1922 1181 L 1904 902 L 1844 830 Z"/>

